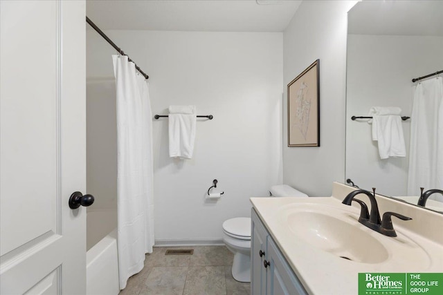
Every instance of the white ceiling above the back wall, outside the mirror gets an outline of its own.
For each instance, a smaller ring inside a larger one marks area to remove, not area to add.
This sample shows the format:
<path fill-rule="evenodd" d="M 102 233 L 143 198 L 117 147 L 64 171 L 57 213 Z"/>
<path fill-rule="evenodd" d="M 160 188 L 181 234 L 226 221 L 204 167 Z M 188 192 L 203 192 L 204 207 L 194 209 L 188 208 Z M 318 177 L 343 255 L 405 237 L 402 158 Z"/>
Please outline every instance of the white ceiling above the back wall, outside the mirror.
<path fill-rule="evenodd" d="M 102 30 L 282 32 L 302 1 L 87 0 L 87 16 Z"/>

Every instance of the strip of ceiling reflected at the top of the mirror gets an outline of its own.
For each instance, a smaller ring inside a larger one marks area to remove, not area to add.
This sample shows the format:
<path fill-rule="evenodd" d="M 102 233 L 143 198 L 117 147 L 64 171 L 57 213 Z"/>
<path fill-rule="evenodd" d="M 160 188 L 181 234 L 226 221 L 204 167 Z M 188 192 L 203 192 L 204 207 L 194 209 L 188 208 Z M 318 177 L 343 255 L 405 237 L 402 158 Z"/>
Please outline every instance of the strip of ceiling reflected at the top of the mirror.
<path fill-rule="evenodd" d="M 443 1 L 363 1 L 348 13 L 348 32 L 443 36 Z"/>

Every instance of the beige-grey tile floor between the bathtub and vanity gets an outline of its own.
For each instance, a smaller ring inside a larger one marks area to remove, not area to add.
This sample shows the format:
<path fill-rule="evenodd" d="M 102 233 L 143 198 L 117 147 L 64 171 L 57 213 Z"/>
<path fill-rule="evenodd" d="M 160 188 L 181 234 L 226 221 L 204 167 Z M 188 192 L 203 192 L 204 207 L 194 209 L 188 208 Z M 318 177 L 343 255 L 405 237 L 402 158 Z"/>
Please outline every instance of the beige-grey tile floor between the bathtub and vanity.
<path fill-rule="evenodd" d="M 193 255 L 165 255 L 167 249 L 194 249 Z M 249 283 L 230 273 L 233 254 L 225 246 L 155 247 L 145 268 L 129 278 L 119 295 L 246 295 Z"/>

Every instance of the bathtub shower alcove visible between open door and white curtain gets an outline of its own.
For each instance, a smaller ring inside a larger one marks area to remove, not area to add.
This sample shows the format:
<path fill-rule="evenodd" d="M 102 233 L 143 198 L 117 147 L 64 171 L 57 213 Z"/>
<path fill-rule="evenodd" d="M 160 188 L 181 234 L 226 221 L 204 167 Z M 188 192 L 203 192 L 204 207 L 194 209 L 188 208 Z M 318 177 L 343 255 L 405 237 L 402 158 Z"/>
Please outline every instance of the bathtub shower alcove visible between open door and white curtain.
<path fill-rule="evenodd" d="M 116 82 L 112 48 L 90 46 L 100 38 L 87 30 L 87 191 L 96 202 L 87 209 L 87 294 L 118 294 Z M 108 68 L 94 67 L 99 55 Z"/>

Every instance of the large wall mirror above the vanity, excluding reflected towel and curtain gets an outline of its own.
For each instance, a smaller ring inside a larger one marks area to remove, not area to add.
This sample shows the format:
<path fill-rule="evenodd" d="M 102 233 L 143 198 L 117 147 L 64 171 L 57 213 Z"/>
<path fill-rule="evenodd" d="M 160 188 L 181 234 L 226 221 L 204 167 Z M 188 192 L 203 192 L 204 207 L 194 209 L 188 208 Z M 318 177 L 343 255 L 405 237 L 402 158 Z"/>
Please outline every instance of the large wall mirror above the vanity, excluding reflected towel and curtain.
<path fill-rule="evenodd" d="M 361 189 L 376 187 L 384 196 L 417 204 L 419 187 L 408 192 L 408 170 L 414 169 L 409 156 L 415 118 L 401 122 L 406 157 L 381 160 L 378 143 L 372 140 L 372 124 L 351 117 L 368 116 L 372 106 L 397 106 L 401 115 L 411 116 L 418 84 L 412 79 L 443 70 L 442 48 L 443 1 L 361 1 L 348 12 L 345 175 Z M 432 142 L 419 144 L 435 149 Z M 442 212 L 443 196 L 433 194 L 426 208 Z"/>

